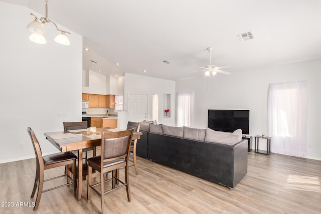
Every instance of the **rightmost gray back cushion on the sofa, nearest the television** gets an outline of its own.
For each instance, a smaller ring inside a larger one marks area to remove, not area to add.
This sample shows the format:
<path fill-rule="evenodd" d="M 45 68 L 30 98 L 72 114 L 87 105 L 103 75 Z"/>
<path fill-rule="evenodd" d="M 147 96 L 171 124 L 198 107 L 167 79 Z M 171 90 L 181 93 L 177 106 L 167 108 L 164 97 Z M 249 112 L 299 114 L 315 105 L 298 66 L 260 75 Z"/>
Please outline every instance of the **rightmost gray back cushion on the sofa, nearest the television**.
<path fill-rule="evenodd" d="M 230 132 L 214 131 L 210 128 L 206 128 L 205 141 L 213 143 L 223 143 L 228 145 L 234 145 L 239 142 L 239 136 Z M 241 134 L 242 139 L 242 134 Z"/>

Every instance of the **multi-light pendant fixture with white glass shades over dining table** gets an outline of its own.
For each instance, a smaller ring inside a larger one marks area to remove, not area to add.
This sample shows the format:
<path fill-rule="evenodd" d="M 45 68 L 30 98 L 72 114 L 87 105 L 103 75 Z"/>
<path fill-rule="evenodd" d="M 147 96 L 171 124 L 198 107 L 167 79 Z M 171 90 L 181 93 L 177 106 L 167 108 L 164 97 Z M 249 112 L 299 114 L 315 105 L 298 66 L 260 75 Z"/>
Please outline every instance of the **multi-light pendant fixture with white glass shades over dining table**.
<path fill-rule="evenodd" d="M 29 37 L 31 41 L 38 44 L 46 44 L 47 41 L 44 37 L 44 35 L 46 34 L 46 31 L 44 29 L 44 25 L 46 23 L 52 23 L 56 27 L 56 30 L 61 32 L 60 34 L 58 34 L 58 36 L 56 36 L 55 42 L 61 45 L 70 45 L 69 39 L 66 36 L 66 34 L 70 34 L 70 33 L 67 31 L 58 29 L 57 25 L 53 21 L 49 20 L 48 18 L 48 0 L 46 0 L 46 17 L 42 17 L 38 19 L 35 15 L 33 14 L 30 14 L 30 15 L 35 19 L 31 23 L 29 23 L 29 25 L 27 26 L 27 30 L 32 33 Z"/>

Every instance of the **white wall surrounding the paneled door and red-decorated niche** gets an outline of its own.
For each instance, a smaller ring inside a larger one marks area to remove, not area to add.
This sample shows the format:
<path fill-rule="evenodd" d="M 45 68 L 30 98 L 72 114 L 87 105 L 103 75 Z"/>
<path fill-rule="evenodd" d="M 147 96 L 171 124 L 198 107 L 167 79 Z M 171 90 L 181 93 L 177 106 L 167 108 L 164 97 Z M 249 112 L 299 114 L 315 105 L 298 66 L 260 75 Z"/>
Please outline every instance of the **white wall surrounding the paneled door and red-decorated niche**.
<path fill-rule="evenodd" d="M 158 123 L 164 123 L 166 125 L 175 125 L 175 81 L 164 80 L 153 77 L 146 77 L 136 74 L 125 73 L 125 94 L 124 94 L 124 108 L 127 110 L 128 94 L 147 94 L 147 120 L 152 118 L 152 95 L 158 94 Z M 163 94 L 171 94 L 171 117 L 164 117 L 163 109 L 164 96 Z"/>

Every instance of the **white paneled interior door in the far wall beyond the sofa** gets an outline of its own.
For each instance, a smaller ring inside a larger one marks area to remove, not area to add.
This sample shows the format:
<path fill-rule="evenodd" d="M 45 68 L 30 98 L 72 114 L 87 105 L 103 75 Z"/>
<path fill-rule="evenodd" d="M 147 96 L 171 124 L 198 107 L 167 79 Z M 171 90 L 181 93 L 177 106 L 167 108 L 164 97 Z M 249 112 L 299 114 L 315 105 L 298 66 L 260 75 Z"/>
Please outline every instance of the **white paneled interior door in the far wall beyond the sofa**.
<path fill-rule="evenodd" d="M 129 94 L 128 121 L 147 120 L 147 94 Z"/>

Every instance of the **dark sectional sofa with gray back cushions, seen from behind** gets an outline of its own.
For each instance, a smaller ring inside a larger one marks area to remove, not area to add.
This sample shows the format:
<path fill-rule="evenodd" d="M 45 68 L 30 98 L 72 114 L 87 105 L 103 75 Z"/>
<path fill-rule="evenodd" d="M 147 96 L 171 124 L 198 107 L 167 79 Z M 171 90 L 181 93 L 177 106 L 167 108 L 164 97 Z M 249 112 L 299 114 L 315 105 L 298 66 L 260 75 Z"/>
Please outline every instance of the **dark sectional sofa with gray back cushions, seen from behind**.
<path fill-rule="evenodd" d="M 247 140 L 235 133 L 141 124 L 136 154 L 234 188 L 247 173 Z M 193 138 L 193 139 L 191 139 Z"/>

